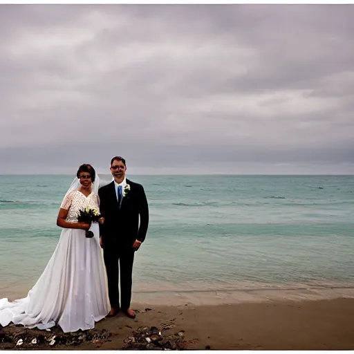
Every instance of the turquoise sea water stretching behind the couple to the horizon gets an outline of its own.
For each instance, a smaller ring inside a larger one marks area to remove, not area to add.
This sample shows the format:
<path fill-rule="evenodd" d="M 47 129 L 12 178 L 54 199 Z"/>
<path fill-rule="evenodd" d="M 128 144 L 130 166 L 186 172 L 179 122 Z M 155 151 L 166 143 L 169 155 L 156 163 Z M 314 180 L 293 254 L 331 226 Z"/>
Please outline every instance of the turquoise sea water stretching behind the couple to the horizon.
<path fill-rule="evenodd" d="M 136 292 L 354 284 L 354 176 L 129 178 L 150 209 Z M 0 297 L 44 270 L 72 180 L 0 176 Z"/>

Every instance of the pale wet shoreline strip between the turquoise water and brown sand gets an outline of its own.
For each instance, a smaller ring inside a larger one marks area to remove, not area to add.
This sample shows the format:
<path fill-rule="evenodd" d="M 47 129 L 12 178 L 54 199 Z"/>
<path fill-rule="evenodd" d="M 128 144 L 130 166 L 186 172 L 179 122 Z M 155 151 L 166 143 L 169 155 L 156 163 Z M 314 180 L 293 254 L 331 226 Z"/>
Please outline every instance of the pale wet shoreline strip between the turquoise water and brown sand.
<path fill-rule="evenodd" d="M 31 285 L 12 284 L 0 286 L 0 299 L 7 297 L 9 301 L 27 296 Z M 341 298 L 354 299 L 354 285 L 348 284 L 288 284 L 288 285 L 256 285 L 242 284 L 210 288 L 205 283 L 196 290 L 185 290 L 186 287 L 167 284 L 155 288 L 153 286 L 133 286 L 132 306 L 220 306 L 232 304 L 262 303 L 269 301 L 320 301 Z M 135 288 L 135 289 L 134 289 Z M 140 290 L 137 290 L 140 289 Z"/>

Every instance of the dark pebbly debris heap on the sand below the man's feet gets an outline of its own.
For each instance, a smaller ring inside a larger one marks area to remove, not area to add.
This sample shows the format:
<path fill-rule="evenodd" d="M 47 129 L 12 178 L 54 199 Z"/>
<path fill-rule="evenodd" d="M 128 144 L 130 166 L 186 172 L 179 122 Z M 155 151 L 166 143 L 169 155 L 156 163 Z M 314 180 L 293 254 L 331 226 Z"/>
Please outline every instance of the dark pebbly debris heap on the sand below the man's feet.
<path fill-rule="evenodd" d="M 124 339 L 125 346 L 122 348 L 129 351 L 171 351 L 187 349 L 187 342 L 184 339 L 185 331 L 162 335 L 162 330 L 156 326 L 139 327 L 133 330 L 133 336 Z"/>

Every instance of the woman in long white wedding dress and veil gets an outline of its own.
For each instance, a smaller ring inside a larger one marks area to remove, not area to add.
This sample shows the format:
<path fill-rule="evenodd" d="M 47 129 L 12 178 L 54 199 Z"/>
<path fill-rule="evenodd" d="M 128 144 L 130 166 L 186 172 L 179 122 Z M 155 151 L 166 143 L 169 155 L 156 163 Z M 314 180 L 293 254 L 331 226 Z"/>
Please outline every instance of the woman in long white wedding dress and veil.
<path fill-rule="evenodd" d="M 60 205 L 57 225 L 63 230 L 53 256 L 26 298 L 0 299 L 1 326 L 13 322 L 46 329 L 58 324 L 67 333 L 94 328 L 109 313 L 98 224 L 77 221 L 80 209 L 99 209 L 98 187 L 95 169 L 81 165 Z M 91 239 L 85 236 L 88 229 Z"/>

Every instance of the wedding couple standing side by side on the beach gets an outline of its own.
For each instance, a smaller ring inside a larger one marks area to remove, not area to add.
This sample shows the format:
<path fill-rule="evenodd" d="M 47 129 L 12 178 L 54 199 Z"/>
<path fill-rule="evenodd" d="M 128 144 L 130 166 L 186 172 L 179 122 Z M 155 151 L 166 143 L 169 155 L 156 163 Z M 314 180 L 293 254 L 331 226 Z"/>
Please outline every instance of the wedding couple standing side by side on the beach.
<path fill-rule="evenodd" d="M 130 308 L 133 259 L 147 234 L 149 209 L 142 185 L 125 177 L 124 158 L 112 158 L 110 168 L 113 181 L 100 187 L 91 165 L 79 167 L 60 205 L 57 225 L 63 230 L 53 256 L 26 298 L 0 299 L 1 326 L 58 324 L 67 333 L 94 328 L 120 309 L 135 317 Z M 100 209 L 99 223 L 77 221 L 87 207 Z M 92 238 L 86 238 L 87 230 Z"/>

